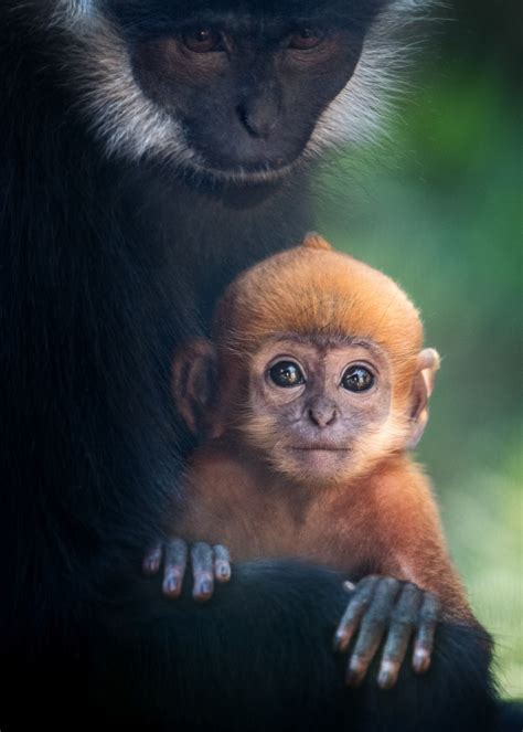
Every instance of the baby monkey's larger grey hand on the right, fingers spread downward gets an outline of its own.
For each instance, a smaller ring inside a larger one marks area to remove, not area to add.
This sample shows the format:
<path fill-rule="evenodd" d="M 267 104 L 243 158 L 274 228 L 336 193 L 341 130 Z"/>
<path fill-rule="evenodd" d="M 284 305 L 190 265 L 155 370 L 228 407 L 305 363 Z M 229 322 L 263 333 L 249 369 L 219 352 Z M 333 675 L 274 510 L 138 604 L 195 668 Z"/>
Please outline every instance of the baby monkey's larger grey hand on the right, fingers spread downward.
<path fill-rule="evenodd" d="M 439 603 L 429 592 L 392 577 L 371 575 L 355 586 L 345 583 L 351 593 L 348 608 L 338 626 L 334 648 L 345 651 L 357 633 L 346 669 L 346 683 L 359 686 L 386 637 L 377 683 L 392 688 L 405 660 L 414 635 L 413 667 L 424 673 L 430 666 Z"/>

